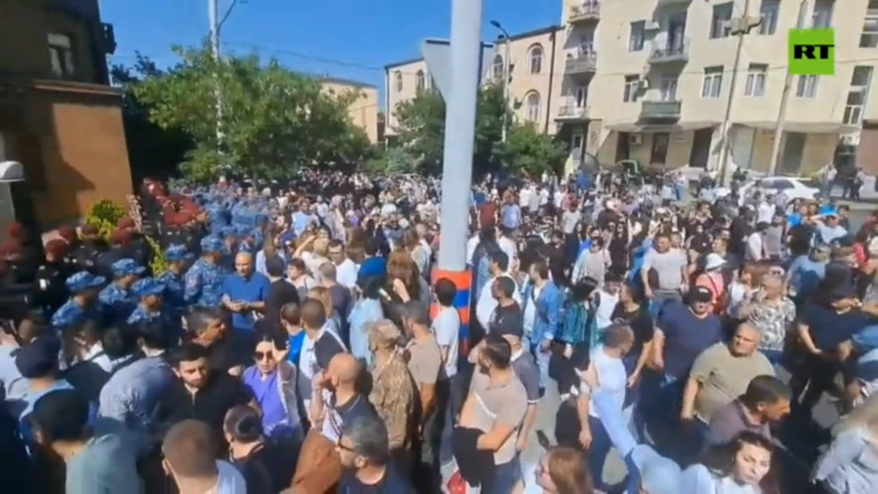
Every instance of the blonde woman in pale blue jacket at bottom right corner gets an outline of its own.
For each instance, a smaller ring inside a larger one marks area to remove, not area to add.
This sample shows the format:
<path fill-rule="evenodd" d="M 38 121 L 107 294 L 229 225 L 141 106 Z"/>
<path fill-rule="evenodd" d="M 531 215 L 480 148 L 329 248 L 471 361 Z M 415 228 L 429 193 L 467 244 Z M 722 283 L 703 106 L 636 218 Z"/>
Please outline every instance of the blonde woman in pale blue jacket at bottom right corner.
<path fill-rule="evenodd" d="M 831 494 L 878 491 L 878 395 L 869 396 L 832 429 L 832 443 L 811 480 Z"/>

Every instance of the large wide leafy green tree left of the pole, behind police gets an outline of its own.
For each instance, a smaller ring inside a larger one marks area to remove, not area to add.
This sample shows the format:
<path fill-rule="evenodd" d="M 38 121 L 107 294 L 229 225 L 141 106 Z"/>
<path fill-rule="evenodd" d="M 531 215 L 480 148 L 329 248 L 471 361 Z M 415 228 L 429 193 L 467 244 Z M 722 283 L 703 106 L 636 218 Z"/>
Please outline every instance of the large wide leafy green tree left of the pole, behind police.
<path fill-rule="evenodd" d="M 368 150 L 348 114 L 359 94 L 324 91 L 319 80 L 273 59 L 174 51 L 176 66 L 130 88 L 152 123 L 192 136 L 181 166 L 187 178 L 283 178 L 304 165 L 359 160 Z"/>

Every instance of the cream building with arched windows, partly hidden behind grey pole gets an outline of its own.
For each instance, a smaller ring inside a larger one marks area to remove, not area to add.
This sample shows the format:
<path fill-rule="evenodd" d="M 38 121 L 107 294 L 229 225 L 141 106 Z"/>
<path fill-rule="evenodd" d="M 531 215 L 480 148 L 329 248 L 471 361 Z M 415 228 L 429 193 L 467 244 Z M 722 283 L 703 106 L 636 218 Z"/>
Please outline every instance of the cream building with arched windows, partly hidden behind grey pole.
<path fill-rule="evenodd" d="M 512 117 L 533 122 L 543 132 L 555 134 L 558 95 L 564 74 L 564 29 L 547 26 L 497 39 L 494 56 L 484 67 L 482 80 L 502 84 L 509 56 L 509 93 Z M 386 134 L 392 140 L 398 126 L 395 108 L 403 101 L 415 98 L 418 91 L 432 87 L 433 81 L 423 58 L 413 58 L 385 65 Z M 584 101 L 584 97 L 583 97 Z M 572 112 L 573 114 L 574 112 Z M 573 117 L 573 115 L 571 115 Z"/>

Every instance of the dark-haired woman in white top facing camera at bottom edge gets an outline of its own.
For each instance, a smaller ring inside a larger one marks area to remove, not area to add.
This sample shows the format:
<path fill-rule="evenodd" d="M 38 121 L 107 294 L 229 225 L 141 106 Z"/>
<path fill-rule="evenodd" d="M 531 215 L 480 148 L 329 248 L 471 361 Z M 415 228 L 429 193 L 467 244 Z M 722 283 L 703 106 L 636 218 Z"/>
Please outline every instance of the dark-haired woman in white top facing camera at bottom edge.
<path fill-rule="evenodd" d="M 679 492 L 698 494 L 778 494 L 769 475 L 771 441 L 744 430 L 727 445 L 711 449 L 680 477 Z"/>

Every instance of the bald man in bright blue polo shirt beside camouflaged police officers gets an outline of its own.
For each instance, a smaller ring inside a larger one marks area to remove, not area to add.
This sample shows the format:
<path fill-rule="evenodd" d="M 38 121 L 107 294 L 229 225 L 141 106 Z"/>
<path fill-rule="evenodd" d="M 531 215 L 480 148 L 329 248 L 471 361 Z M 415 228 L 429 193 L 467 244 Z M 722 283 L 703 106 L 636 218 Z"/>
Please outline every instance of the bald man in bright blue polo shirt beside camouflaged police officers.
<path fill-rule="evenodd" d="M 253 256 L 246 252 L 235 256 L 235 273 L 222 282 L 222 306 L 232 312 L 232 332 L 237 339 L 235 349 L 247 361 L 254 350 L 253 327 L 256 313 L 265 309 L 271 281 L 254 270 Z"/>

